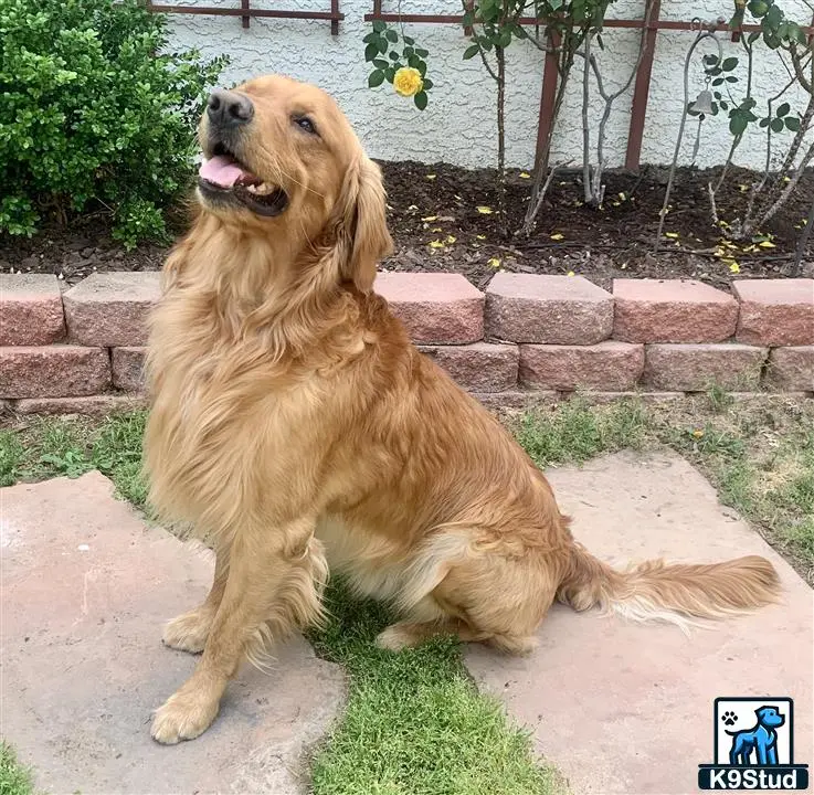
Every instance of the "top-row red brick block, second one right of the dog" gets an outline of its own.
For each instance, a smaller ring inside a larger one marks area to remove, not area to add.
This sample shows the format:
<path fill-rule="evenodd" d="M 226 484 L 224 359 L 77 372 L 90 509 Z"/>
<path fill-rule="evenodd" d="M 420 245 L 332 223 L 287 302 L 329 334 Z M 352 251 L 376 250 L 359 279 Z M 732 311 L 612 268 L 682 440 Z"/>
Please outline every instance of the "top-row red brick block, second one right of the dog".
<path fill-rule="evenodd" d="M 594 344 L 613 329 L 613 297 L 582 276 L 497 274 L 486 290 L 486 336 L 536 344 Z"/>

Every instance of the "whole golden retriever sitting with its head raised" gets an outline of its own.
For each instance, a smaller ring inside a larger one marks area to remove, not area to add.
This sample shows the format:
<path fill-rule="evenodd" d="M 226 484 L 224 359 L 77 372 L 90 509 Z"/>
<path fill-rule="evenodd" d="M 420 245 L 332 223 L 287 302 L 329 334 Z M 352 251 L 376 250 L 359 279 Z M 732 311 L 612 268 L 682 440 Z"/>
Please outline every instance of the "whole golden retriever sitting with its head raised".
<path fill-rule="evenodd" d="M 244 658 L 317 622 L 329 570 L 398 610 L 393 650 L 451 634 L 525 653 L 556 600 L 678 623 L 774 600 L 762 558 L 622 572 L 574 541 L 522 448 L 373 293 L 381 173 L 325 93 L 216 91 L 200 142 L 198 215 L 151 319 L 145 459 L 159 515 L 216 562 L 166 627 L 203 654 L 157 741 L 201 734 Z"/>

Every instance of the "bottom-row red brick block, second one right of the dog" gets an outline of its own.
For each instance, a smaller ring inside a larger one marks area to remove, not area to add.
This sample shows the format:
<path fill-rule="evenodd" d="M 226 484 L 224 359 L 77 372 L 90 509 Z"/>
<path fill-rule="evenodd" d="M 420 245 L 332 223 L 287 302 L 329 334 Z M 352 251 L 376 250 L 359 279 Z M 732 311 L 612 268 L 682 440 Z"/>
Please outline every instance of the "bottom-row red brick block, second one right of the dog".
<path fill-rule="evenodd" d="M 520 346 L 520 382 L 553 390 L 630 390 L 644 370 L 644 347 L 609 340 L 593 346 Z"/>

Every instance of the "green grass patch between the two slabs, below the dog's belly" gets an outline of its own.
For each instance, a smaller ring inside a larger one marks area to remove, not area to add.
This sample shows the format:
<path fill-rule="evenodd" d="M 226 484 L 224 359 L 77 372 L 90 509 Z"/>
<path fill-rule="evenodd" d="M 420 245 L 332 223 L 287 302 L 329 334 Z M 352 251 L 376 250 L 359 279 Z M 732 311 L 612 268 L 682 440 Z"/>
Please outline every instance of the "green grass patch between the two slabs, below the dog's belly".
<path fill-rule="evenodd" d="M 435 640 L 400 654 L 373 645 L 387 610 L 327 597 L 331 618 L 311 635 L 317 653 L 350 675 L 341 723 L 317 753 L 315 795 L 548 795 L 565 792 L 536 763 L 529 735 L 478 693 L 458 645 Z"/>

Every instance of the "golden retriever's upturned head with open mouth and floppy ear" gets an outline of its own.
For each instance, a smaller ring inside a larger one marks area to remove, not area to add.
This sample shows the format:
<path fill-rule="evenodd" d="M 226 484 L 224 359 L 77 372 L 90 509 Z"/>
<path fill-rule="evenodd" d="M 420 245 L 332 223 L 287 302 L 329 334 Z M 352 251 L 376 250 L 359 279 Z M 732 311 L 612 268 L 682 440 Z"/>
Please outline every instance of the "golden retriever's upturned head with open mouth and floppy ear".
<path fill-rule="evenodd" d="M 214 91 L 199 137 L 204 211 L 260 234 L 327 233 L 342 276 L 370 289 L 392 247 L 381 172 L 325 92 L 276 75 Z"/>

